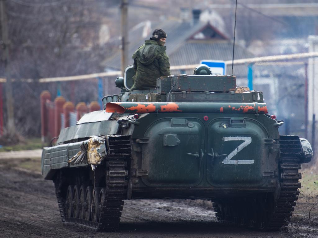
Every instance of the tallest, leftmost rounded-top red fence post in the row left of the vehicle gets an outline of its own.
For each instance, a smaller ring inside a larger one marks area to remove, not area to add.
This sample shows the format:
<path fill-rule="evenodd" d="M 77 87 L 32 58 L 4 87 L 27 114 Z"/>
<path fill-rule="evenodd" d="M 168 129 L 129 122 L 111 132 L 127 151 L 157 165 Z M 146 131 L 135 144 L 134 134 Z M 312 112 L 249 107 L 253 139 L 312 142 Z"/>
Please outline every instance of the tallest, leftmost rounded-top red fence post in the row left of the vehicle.
<path fill-rule="evenodd" d="M 51 101 L 51 93 L 47 90 L 43 91 L 40 95 L 42 143 L 46 142 L 46 137 L 48 135 L 49 130 L 48 109 L 46 108 L 46 101 Z"/>

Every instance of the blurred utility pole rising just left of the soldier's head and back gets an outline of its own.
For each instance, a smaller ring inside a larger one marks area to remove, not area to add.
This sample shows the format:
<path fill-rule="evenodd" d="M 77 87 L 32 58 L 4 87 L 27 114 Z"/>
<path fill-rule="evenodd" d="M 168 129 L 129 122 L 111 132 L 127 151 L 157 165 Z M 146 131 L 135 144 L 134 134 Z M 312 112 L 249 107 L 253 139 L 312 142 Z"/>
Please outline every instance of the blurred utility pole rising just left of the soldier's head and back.
<path fill-rule="evenodd" d="M 124 75 L 128 54 L 128 0 L 121 0 L 121 72 Z"/>

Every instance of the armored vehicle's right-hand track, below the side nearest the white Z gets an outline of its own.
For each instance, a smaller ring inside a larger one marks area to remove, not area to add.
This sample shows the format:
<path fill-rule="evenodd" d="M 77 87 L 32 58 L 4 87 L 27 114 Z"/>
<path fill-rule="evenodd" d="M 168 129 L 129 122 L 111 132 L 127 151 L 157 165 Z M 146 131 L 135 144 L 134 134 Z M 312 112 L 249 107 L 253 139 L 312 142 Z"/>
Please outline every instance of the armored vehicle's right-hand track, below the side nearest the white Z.
<path fill-rule="evenodd" d="M 299 140 L 299 139 L 298 139 Z M 295 142 L 280 140 L 294 148 Z M 281 145 L 281 147 L 284 147 Z M 213 202 L 218 221 L 265 231 L 277 231 L 287 226 L 298 199 L 301 173 L 299 156 L 281 153 L 279 161 L 280 193 L 277 199 L 268 194 Z"/>

